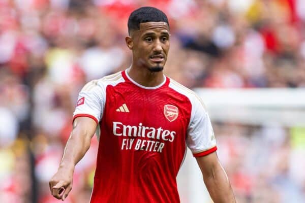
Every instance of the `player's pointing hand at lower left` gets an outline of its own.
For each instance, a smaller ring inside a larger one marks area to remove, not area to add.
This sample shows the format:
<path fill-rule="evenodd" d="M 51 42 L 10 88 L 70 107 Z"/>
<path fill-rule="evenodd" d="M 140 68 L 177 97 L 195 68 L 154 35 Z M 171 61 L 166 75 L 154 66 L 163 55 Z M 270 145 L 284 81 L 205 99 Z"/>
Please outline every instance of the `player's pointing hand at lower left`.
<path fill-rule="evenodd" d="M 68 196 L 69 192 L 72 190 L 73 182 L 73 171 L 74 170 L 64 170 L 63 168 L 58 168 L 58 171 L 49 181 L 49 187 L 51 194 L 63 201 Z"/>

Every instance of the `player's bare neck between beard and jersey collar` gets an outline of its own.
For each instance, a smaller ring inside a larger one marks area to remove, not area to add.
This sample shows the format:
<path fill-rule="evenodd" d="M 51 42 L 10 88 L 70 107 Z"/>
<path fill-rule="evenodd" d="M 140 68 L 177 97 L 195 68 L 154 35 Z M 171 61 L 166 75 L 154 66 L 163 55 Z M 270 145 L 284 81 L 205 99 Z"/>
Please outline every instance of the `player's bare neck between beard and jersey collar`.
<path fill-rule="evenodd" d="M 145 87 L 156 87 L 164 82 L 163 72 L 151 72 L 144 67 L 131 65 L 128 75 L 138 84 Z"/>

